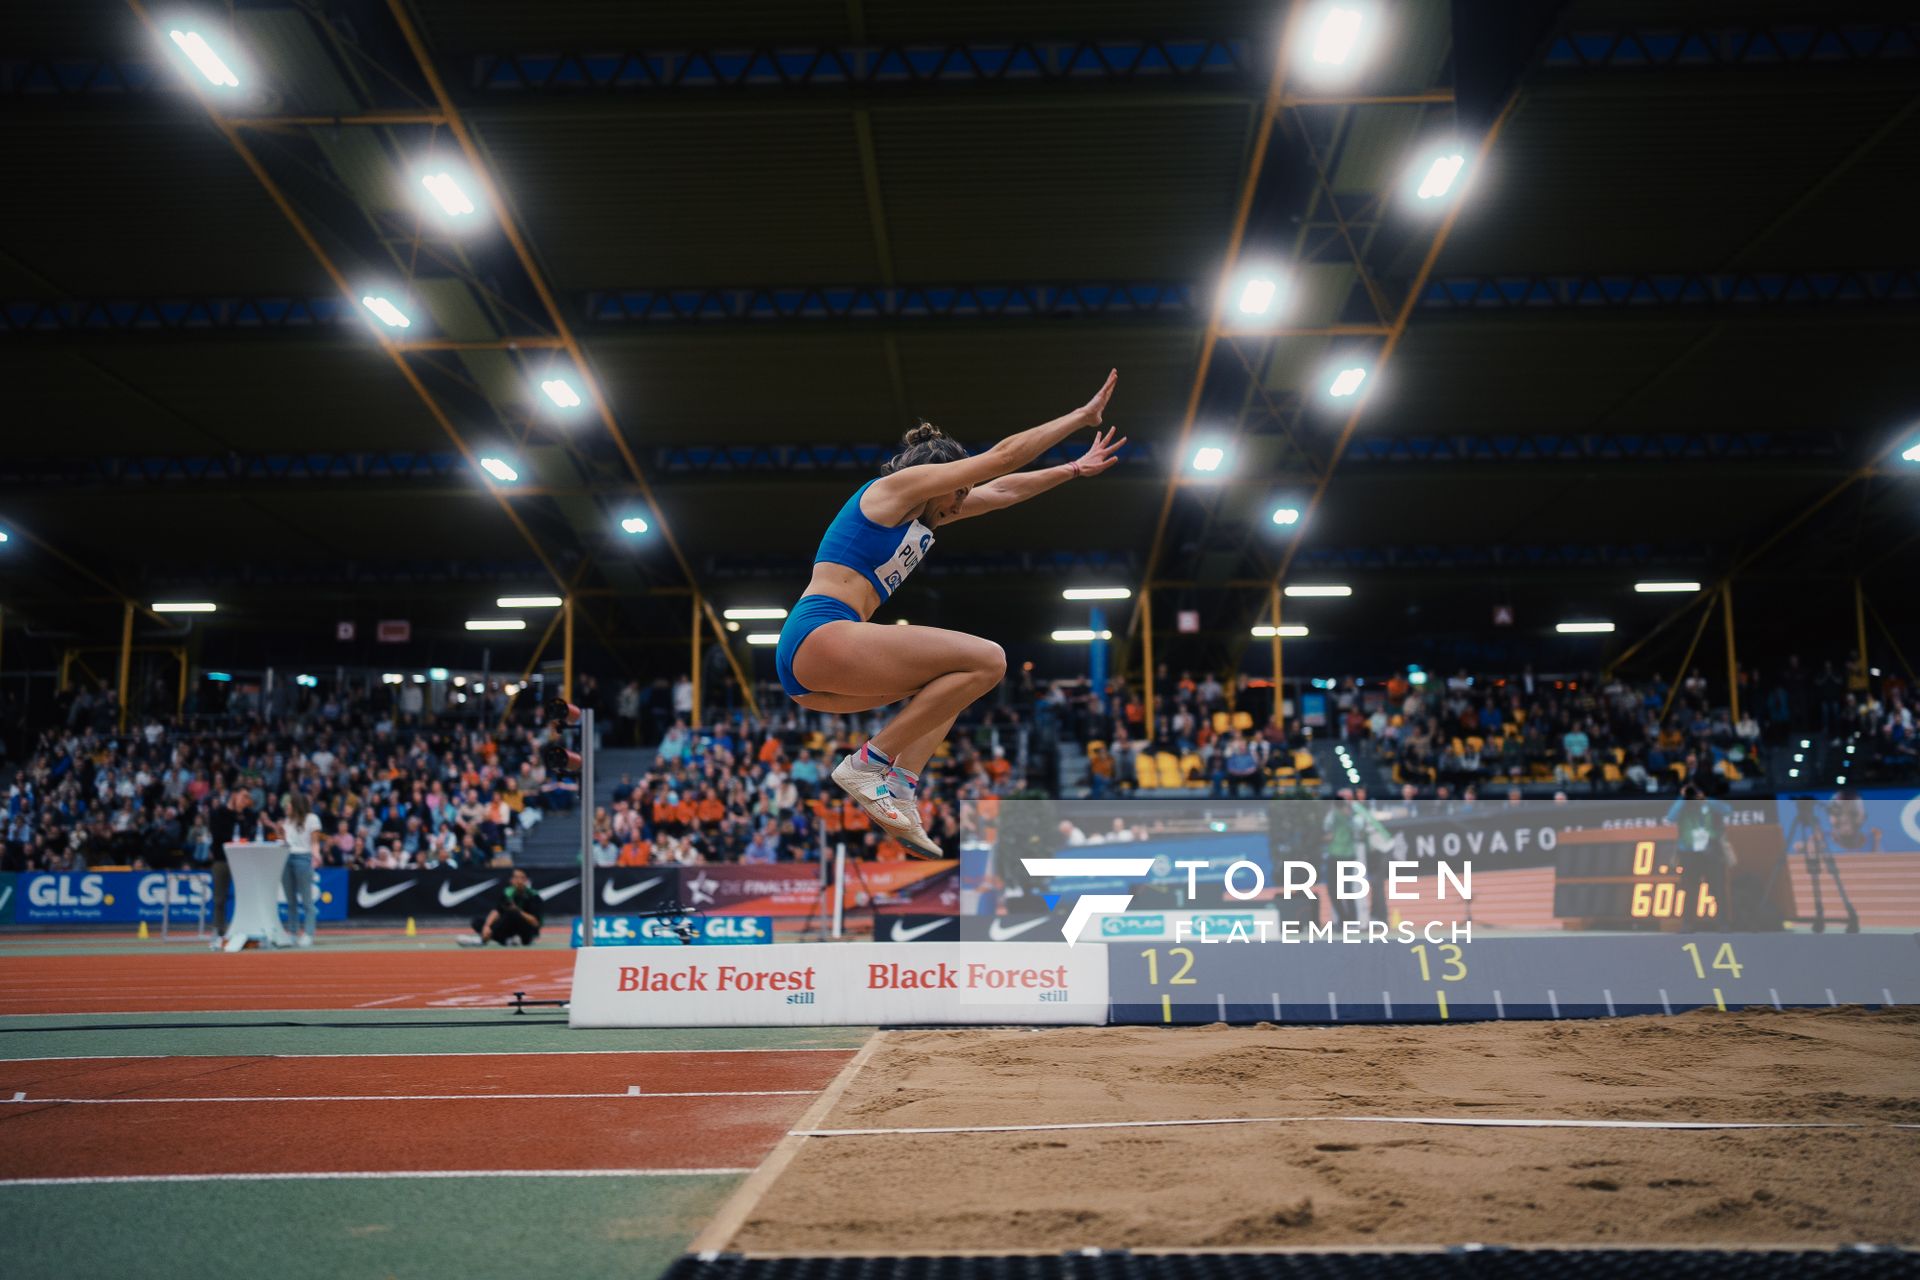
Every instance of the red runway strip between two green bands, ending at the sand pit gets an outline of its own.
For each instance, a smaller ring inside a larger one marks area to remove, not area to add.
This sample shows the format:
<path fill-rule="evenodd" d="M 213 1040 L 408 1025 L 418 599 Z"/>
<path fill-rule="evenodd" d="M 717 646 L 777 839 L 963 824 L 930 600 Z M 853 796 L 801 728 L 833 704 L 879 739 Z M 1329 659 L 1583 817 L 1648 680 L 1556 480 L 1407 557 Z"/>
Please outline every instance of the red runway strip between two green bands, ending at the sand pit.
<path fill-rule="evenodd" d="M 0 1063 L 0 1178 L 751 1169 L 851 1054 Z"/>

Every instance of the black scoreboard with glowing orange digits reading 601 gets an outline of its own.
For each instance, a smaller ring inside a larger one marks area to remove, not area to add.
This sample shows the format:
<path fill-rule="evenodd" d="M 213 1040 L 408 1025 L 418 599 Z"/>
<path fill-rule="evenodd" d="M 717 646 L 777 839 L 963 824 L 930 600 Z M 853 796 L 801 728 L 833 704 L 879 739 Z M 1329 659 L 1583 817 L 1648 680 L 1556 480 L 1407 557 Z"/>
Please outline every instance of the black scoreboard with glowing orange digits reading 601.
<path fill-rule="evenodd" d="M 1682 850 L 1672 827 L 1567 831 L 1555 850 L 1553 915 L 1596 929 L 1711 929 L 1724 875 L 1724 858 Z"/>

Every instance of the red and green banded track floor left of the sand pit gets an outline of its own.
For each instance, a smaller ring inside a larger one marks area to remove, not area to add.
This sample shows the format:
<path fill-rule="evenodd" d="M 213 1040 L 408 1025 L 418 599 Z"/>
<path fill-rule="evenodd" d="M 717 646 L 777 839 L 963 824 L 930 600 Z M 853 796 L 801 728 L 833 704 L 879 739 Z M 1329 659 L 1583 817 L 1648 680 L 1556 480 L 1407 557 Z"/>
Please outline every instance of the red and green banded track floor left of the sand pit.
<path fill-rule="evenodd" d="M 570 952 L 411 942 L 6 956 L 10 1280 L 657 1274 L 868 1038 L 568 1031 L 505 1006 Z"/>

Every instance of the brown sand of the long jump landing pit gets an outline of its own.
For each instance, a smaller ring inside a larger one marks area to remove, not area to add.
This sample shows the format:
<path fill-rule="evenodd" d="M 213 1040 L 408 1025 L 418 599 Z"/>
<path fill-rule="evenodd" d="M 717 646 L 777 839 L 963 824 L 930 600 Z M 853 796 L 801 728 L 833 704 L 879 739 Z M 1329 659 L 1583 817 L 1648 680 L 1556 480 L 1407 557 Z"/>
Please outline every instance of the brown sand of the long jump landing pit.
<path fill-rule="evenodd" d="M 1200 1117 L 1851 1121 L 1275 1125 L 812 1138 L 755 1251 L 1920 1242 L 1920 1011 L 1438 1027 L 897 1031 L 822 1128 Z"/>

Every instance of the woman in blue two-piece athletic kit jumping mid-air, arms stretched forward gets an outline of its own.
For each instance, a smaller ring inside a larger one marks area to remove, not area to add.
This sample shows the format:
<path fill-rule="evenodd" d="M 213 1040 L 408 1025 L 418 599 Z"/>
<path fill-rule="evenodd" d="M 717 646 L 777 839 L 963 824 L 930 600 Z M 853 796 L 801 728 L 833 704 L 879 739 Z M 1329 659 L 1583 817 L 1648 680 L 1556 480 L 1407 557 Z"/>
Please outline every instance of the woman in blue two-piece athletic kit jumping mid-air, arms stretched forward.
<path fill-rule="evenodd" d="M 833 781 L 883 829 L 927 856 L 943 852 L 914 804 L 920 770 L 954 718 L 1000 683 L 1006 651 L 964 631 L 879 626 L 868 618 L 925 560 L 939 526 L 1110 468 L 1127 441 L 1116 441 L 1114 430 L 1096 430 L 1085 457 L 1020 470 L 1068 436 L 1098 428 L 1117 380 L 1117 370 L 1108 372 L 1100 391 L 1073 413 L 1008 436 L 981 455 L 968 455 L 931 422 L 916 426 L 879 478 L 860 486 L 833 516 L 814 553 L 814 578 L 780 629 L 774 666 L 780 685 L 801 706 L 852 714 L 906 702 L 833 768 Z"/>

